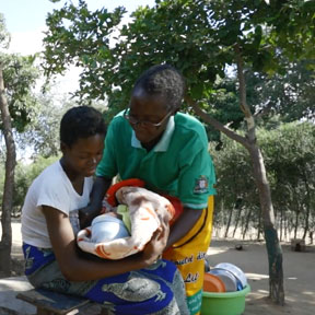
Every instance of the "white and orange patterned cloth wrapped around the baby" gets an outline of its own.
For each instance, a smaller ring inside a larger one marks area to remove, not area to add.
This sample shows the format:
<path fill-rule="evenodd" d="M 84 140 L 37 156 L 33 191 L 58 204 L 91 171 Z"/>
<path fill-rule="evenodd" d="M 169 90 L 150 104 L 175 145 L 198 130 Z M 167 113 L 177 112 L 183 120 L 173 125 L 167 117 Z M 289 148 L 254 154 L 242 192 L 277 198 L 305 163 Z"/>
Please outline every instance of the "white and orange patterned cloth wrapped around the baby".
<path fill-rule="evenodd" d="M 130 235 L 124 232 L 125 237 L 97 242 L 100 238 L 95 235 L 93 237 L 91 225 L 81 230 L 77 236 L 78 245 L 82 250 L 106 259 L 120 259 L 142 250 L 162 220 L 170 222 L 175 214 L 175 209 L 168 199 L 143 187 L 125 186 L 119 188 L 115 196 L 118 203 L 126 205 L 128 208 Z M 109 214 L 98 217 L 102 215 Z M 100 220 L 98 217 L 95 219 Z"/>

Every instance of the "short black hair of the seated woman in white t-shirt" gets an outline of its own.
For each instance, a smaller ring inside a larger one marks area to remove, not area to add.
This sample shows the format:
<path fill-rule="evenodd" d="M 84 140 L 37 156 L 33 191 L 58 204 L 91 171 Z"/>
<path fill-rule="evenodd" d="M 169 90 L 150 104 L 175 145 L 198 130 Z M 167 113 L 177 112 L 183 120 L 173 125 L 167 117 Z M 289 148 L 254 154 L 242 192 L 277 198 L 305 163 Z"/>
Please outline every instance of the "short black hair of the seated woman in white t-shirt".
<path fill-rule="evenodd" d="M 101 112 L 91 106 L 70 108 L 61 118 L 60 141 L 71 147 L 79 138 L 106 133 L 106 125 Z"/>

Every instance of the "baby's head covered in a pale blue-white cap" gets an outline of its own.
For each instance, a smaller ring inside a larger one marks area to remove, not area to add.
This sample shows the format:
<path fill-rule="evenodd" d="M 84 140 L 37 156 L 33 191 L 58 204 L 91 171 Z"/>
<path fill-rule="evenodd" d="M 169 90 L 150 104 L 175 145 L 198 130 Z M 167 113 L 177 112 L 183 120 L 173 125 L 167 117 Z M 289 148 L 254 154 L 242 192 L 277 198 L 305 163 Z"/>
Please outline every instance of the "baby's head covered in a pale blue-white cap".
<path fill-rule="evenodd" d="M 116 238 L 130 236 L 122 220 L 118 218 L 117 213 L 109 212 L 96 217 L 92 221 L 92 242 L 103 243 Z"/>

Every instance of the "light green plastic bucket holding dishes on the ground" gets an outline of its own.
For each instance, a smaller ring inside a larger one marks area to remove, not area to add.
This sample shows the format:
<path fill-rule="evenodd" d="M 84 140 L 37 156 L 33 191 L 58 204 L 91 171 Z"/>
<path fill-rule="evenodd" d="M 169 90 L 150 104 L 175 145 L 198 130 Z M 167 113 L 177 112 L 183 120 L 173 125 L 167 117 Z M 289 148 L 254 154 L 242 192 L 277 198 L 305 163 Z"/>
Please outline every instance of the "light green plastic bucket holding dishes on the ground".
<path fill-rule="evenodd" d="M 245 311 L 245 296 L 249 292 L 249 284 L 242 291 L 203 292 L 201 315 L 241 315 Z"/>

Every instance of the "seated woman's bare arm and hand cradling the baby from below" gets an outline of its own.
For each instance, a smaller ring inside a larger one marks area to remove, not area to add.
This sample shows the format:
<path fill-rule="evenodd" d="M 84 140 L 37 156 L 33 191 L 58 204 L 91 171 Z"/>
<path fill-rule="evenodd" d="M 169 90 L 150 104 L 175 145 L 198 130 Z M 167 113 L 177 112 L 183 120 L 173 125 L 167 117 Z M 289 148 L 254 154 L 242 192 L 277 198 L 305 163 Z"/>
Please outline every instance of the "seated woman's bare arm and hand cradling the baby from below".
<path fill-rule="evenodd" d="M 70 281 L 97 280 L 152 265 L 166 246 L 168 228 L 163 223 L 143 252 L 119 260 L 89 259 L 79 255 L 69 218 L 61 211 L 43 206 L 56 259 Z"/>

